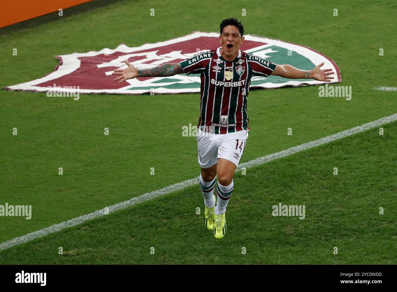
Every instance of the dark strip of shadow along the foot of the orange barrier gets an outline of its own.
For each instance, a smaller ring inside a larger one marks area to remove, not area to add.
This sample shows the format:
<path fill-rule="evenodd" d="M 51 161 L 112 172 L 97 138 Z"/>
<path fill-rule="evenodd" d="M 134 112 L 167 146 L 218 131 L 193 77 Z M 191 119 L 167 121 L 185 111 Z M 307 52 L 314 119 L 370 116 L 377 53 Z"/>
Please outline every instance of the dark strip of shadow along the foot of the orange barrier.
<path fill-rule="evenodd" d="M 29 29 L 32 27 L 36 27 L 43 23 L 49 23 L 52 21 L 59 21 L 64 19 L 65 17 L 69 17 L 72 15 L 78 15 L 81 13 L 88 12 L 90 10 L 94 10 L 96 8 L 108 6 L 115 4 L 117 2 L 122 2 L 125 0 L 93 0 L 91 2 L 83 3 L 77 6 L 73 6 L 67 9 L 64 9 L 63 16 L 58 15 L 58 11 L 52 12 L 50 14 L 42 15 L 39 17 L 35 17 L 29 20 L 25 20 L 19 23 L 15 23 L 3 28 L 0 28 L 0 35 L 8 35 L 11 33 L 15 33 L 21 31 L 23 29 Z"/>

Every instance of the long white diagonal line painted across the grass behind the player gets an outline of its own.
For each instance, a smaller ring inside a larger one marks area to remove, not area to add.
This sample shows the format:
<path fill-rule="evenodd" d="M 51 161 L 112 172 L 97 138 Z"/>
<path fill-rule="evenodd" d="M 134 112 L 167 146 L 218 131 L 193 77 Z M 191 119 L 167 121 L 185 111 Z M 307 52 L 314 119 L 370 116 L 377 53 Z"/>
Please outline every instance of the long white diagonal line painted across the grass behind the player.
<path fill-rule="evenodd" d="M 245 162 L 245 163 L 241 163 L 239 165 L 239 167 L 236 169 L 236 171 L 241 170 L 241 168 L 243 168 L 243 167 L 250 168 L 250 167 L 253 167 L 253 166 L 256 166 L 256 165 L 259 165 L 259 164 L 263 164 L 263 163 L 272 161 L 274 159 L 285 157 L 285 156 L 288 156 L 288 155 L 291 155 L 291 154 L 294 154 L 294 153 L 297 153 L 297 152 L 300 152 L 300 151 L 303 151 L 303 150 L 306 150 L 306 149 L 309 149 L 309 148 L 313 148 L 313 147 L 316 147 L 316 146 L 319 146 L 319 145 L 322 145 L 322 144 L 326 144 L 326 143 L 329 143 L 331 141 L 335 141 L 335 140 L 340 139 L 340 138 L 351 136 L 351 135 L 354 135 L 356 133 L 372 129 L 372 128 L 378 127 L 378 126 L 386 124 L 386 123 L 394 122 L 395 120 L 397 120 L 397 113 L 396 114 L 392 114 L 391 116 L 387 116 L 387 117 L 381 118 L 379 120 L 375 120 L 375 121 L 367 123 L 367 124 L 363 124 L 361 126 L 357 126 L 357 127 L 351 128 L 349 130 L 345 130 L 345 131 L 341 131 L 341 132 L 333 134 L 333 135 L 329 135 L 327 137 L 324 137 L 324 138 L 321 138 L 321 139 L 318 139 L 318 140 L 315 140 L 315 141 L 307 142 L 307 143 L 304 143 L 304 144 L 301 144 L 301 145 L 298 145 L 298 146 L 294 146 L 294 147 L 291 147 L 291 148 L 288 148 L 288 149 L 285 149 L 285 150 L 282 150 L 282 151 L 279 151 L 279 152 L 276 152 L 276 153 L 273 153 L 273 154 L 270 154 L 270 155 L 266 155 L 266 156 L 263 156 L 263 157 L 258 157 L 258 158 L 254 159 L 254 160 L 251 160 L 251 161 L 248 161 L 248 162 Z M 173 184 L 172 186 L 168 186 L 168 187 L 156 190 L 156 191 L 152 191 L 150 193 L 145 193 L 144 195 L 139 195 L 137 197 L 133 197 L 133 198 L 127 200 L 127 201 L 124 201 L 124 202 L 117 203 L 115 205 L 109 206 L 108 207 L 109 208 L 109 214 L 112 213 L 112 212 L 121 210 L 121 209 L 125 209 L 127 207 L 132 206 L 132 205 L 136 205 L 136 204 L 148 201 L 150 199 L 154 199 L 156 197 L 160 197 L 162 195 L 165 195 L 165 194 L 168 194 L 168 193 L 172 193 L 174 191 L 182 190 L 184 188 L 187 188 L 189 186 L 193 186 L 193 185 L 198 184 L 198 183 L 199 183 L 198 177 L 197 178 L 191 178 L 190 180 L 185 180 L 183 182 L 179 182 L 177 184 Z M 105 213 L 104 213 L 105 209 L 106 208 L 100 209 L 100 210 L 96 210 L 96 211 L 94 211 L 92 213 L 89 213 L 87 215 L 82 215 L 82 216 L 79 216 L 79 217 L 76 217 L 76 218 L 73 218 L 73 219 L 58 223 L 58 224 L 54 224 L 54 225 L 49 226 L 47 228 L 44 228 L 44 229 L 41 229 L 41 230 L 38 230 L 38 231 L 35 231 L 35 232 L 31 232 L 31 233 L 28 233 L 28 234 L 20 236 L 20 237 L 13 238 L 13 239 L 8 240 L 6 242 L 2 242 L 2 244 L 0 244 L 0 251 L 2 251 L 3 249 L 8 249 L 8 248 L 11 248 L 13 246 L 17 246 L 19 244 L 34 240 L 36 238 L 40 238 L 40 237 L 48 235 L 48 234 L 60 231 L 60 230 L 65 229 L 67 227 L 75 226 L 75 225 L 81 224 L 81 223 L 83 223 L 85 221 L 104 216 L 105 215 Z"/>

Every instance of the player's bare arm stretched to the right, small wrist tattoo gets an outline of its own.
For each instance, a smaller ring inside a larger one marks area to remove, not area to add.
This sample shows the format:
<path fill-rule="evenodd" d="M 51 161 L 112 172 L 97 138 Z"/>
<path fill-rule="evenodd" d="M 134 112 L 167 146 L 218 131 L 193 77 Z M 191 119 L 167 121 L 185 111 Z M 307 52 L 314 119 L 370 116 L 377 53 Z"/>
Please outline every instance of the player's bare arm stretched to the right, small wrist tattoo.
<path fill-rule="evenodd" d="M 288 64 L 276 64 L 276 69 L 274 69 L 272 75 L 281 76 L 289 79 L 316 79 L 318 81 L 330 82 L 330 79 L 333 79 L 333 77 L 328 75 L 332 75 L 334 72 L 332 72 L 332 69 L 320 69 L 320 67 L 323 65 L 324 62 L 317 65 L 316 68 L 314 68 L 313 70 L 307 71 L 300 70 Z"/>

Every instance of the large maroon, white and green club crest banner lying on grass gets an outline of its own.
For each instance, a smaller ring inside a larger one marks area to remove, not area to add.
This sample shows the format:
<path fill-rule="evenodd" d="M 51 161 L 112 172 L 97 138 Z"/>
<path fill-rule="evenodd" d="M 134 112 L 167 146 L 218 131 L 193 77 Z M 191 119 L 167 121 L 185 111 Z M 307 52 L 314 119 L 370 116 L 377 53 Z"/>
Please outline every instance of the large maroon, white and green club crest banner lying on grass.
<path fill-rule="evenodd" d="M 195 32 L 184 37 L 154 44 L 128 47 L 120 44 L 114 50 L 104 48 L 98 52 L 73 53 L 55 56 L 60 65 L 48 75 L 21 84 L 5 87 L 8 90 L 46 92 L 56 91 L 105 94 L 142 93 L 196 93 L 200 92 L 200 75 L 178 74 L 170 77 L 138 77 L 123 83 L 114 81 L 113 70 L 126 68 L 124 61 L 138 69 L 152 68 L 163 63 L 176 63 L 199 52 L 220 47 L 219 33 Z M 276 64 L 290 64 L 302 70 L 311 70 L 324 62 L 322 68 L 335 72 L 329 83 L 341 82 L 341 74 L 335 62 L 311 48 L 280 40 L 245 35 L 240 50 L 260 56 Z M 279 88 L 323 84 L 313 79 L 286 79 L 279 76 L 253 77 L 251 87 Z M 77 89 L 77 90 L 76 90 Z M 55 90 L 54 90 L 55 91 Z"/>

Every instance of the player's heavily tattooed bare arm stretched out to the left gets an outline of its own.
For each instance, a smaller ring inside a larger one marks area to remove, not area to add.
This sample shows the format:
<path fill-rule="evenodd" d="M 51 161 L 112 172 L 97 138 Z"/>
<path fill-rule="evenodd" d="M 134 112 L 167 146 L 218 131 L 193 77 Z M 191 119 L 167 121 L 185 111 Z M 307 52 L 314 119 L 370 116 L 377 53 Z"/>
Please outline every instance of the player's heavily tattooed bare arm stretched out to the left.
<path fill-rule="evenodd" d="M 125 60 L 125 64 L 127 64 L 127 68 L 116 69 L 112 73 L 112 75 L 121 75 L 116 77 L 114 81 L 120 80 L 119 83 L 121 83 L 124 80 L 136 77 L 167 77 L 184 73 L 179 63 L 166 63 L 150 69 L 137 69 L 128 60 Z"/>

